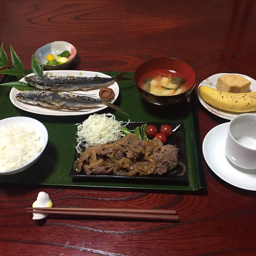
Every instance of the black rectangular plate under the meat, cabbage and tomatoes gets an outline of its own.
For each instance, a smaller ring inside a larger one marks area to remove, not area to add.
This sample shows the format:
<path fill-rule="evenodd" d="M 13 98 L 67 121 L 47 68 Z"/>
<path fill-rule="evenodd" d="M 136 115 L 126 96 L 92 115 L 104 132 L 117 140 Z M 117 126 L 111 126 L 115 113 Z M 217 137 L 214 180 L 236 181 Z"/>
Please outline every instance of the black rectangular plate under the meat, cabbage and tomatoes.
<path fill-rule="evenodd" d="M 125 125 L 127 122 L 122 122 L 122 125 Z M 134 132 L 135 128 L 137 126 L 141 126 L 142 124 L 145 124 L 145 122 L 130 122 L 126 127 Z M 163 123 L 159 122 L 150 122 L 148 125 L 155 125 L 160 130 L 160 127 L 163 125 Z M 186 150 L 185 150 L 185 133 L 184 133 L 184 125 L 183 123 L 165 123 L 169 124 L 172 127 L 172 134 L 170 137 L 167 138 L 166 144 L 172 144 L 175 145 L 179 151 L 178 151 L 178 161 L 182 162 L 186 166 Z M 79 154 L 75 151 L 75 157 L 74 161 L 76 161 L 79 158 Z M 116 174 L 108 174 L 108 175 L 97 175 L 97 174 L 90 174 L 87 175 L 83 170 L 81 172 L 77 172 L 73 166 L 71 168 L 70 176 L 74 178 L 90 178 L 90 177 L 104 177 L 104 178 L 118 178 L 118 179 L 129 179 L 131 182 L 135 181 L 137 179 L 140 179 L 140 181 L 147 181 L 147 182 L 161 182 L 161 183 L 168 183 L 168 184 L 188 184 L 188 175 L 187 172 L 185 172 L 183 175 L 178 176 L 177 173 L 180 173 L 181 166 L 177 166 L 175 169 L 164 173 L 162 175 L 145 175 L 145 176 L 121 176 Z"/>

